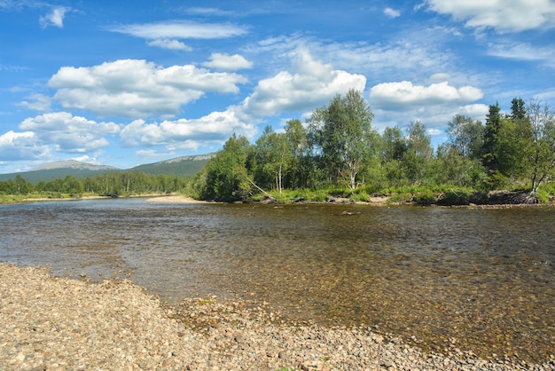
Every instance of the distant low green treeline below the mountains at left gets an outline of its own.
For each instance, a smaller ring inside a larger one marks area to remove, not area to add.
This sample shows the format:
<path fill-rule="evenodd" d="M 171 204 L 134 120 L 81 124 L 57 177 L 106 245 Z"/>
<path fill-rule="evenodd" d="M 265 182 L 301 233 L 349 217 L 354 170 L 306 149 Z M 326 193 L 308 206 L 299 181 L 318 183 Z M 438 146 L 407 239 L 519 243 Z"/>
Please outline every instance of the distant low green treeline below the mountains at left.
<path fill-rule="evenodd" d="M 121 196 L 131 194 L 174 193 L 186 186 L 184 178 L 167 175 L 150 175 L 141 172 L 109 172 L 90 178 L 74 178 L 67 176 L 50 182 L 39 182 L 33 185 L 25 178 L 15 178 L 0 182 L 0 194 L 27 195 L 40 193 L 59 196 L 69 194 L 79 197 L 83 193 L 94 193 L 101 196 Z"/>

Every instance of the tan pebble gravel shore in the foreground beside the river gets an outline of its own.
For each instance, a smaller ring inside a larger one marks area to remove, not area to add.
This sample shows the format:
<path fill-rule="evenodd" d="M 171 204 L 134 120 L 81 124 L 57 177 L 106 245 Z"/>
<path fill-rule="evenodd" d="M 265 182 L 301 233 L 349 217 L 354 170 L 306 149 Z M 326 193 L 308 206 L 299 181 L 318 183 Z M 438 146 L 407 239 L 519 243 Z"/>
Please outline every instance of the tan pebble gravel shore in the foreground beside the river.
<path fill-rule="evenodd" d="M 369 328 L 282 323 L 265 304 L 167 307 L 128 280 L 0 263 L 0 370 L 553 370 L 555 359 L 425 353 Z"/>

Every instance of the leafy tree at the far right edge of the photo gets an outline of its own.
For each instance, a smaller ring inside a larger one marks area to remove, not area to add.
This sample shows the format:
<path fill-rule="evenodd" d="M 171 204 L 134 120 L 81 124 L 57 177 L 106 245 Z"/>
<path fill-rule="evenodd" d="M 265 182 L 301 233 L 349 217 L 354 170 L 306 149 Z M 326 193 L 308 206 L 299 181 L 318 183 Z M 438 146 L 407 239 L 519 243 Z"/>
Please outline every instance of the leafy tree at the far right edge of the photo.
<path fill-rule="evenodd" d="M 555 114 L 538 101 L 530 102 L 527 112 L 532 127 L 531 194 L 535 196 L 539 186 L 555 176 Z"/>

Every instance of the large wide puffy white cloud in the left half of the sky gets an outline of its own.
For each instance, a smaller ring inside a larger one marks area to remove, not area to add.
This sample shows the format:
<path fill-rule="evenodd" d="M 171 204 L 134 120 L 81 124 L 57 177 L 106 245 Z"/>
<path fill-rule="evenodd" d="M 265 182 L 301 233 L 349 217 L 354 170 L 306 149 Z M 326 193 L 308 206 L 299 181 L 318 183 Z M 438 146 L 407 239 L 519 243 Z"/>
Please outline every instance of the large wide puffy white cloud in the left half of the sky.
<path fill-rule="evenodd" d="M 121 59 L 94 67 L 62 67 L 49 81 L 62 107 L 100 116 L 175 115 L 206 92 L 236 93 L 242 75 L 213 73 L 192 65 L 160 67 Z"/>

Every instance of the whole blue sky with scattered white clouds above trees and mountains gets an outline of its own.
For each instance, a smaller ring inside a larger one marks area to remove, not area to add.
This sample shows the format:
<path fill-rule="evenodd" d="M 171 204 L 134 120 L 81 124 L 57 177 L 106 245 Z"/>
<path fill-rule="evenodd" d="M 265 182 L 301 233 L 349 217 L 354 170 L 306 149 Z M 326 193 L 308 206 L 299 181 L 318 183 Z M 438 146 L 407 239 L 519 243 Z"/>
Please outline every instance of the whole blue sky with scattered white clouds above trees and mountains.
<path fill-rule="evenodd" d="M 0 173 L 252 142 L 363 92 L 377 130 L 555 107 L 555 1 L 0 0 Z"/>

